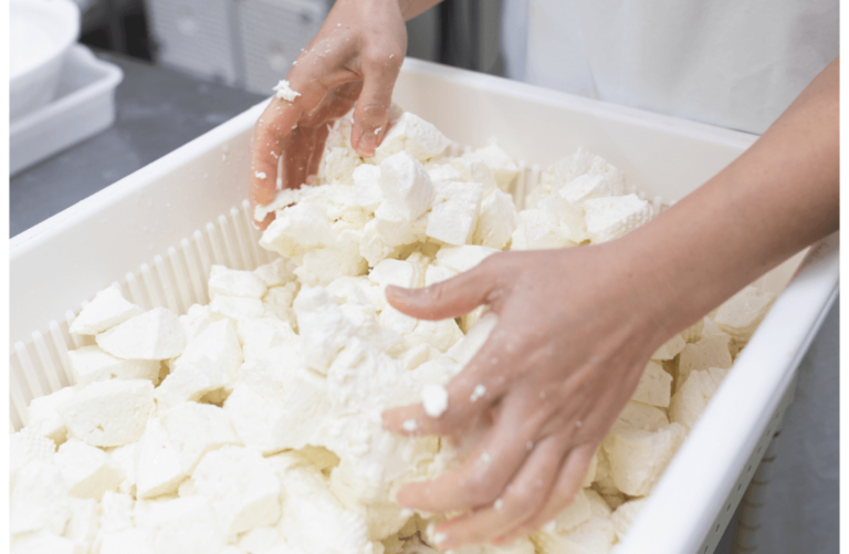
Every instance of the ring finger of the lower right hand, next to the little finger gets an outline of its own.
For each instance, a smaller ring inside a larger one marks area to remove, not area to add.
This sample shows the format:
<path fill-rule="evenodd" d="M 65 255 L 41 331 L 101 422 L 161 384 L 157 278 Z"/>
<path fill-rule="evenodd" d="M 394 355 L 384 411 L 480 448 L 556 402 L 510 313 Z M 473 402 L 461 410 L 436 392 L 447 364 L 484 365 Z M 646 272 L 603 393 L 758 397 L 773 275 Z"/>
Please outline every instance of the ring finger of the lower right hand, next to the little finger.
<path fill-rule="evenodd" d="M 534 447 L 504 492 L 492 505 L 440 523 L 436 531 L 446 536 L 439 547 L 455 548 L 464 544 L 491 541 L 516 529 L 536 513 L 548 499 L 566 451 L 563 436 L 551 436 Z"/>

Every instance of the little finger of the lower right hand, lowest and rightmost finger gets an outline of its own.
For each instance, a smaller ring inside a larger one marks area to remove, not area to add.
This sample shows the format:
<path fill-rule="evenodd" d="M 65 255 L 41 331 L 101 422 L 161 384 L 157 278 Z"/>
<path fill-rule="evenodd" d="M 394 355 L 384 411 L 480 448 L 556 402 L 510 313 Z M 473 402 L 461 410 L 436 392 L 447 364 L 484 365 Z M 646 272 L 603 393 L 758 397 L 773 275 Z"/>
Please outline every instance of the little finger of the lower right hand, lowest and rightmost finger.
<path fill-rule="evenodd" d="M 545 504 L 522 525 L 499 537 L 494 543 L 509 544 L 516 539 L 528 535 L 555 519 L 558 513 L 572 504 L 580 490 L 595 451 L 595 447 L 590 445 L 583 445 L 572 450 Z"/>

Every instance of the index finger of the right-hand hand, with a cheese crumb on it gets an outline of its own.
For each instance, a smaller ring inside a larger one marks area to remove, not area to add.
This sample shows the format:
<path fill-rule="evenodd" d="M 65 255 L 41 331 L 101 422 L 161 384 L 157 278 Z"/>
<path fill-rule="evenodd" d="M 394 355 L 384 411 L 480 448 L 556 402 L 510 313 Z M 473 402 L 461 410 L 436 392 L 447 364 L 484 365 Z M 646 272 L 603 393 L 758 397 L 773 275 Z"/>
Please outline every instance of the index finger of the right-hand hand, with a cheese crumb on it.
<path fill-rule="evenodd" d="M 504 339 L 505 336 L 510 338 Z M 500 321 L 471 362 L 446 386 L 448 407 L 444 411 L 431 416 L 423 404 L 394 408 L 382 414 L 384 427 L 407 436 L 457 433 L 501 399 L 516 378 L 526 374 L 527 364 L 533 362 L 526 349 L 527 343 L 522 336 L 510 328 L 509 323 Z M 522 390 L 515 393 L 522 394 Z M 422 396 L 426 394 L 422 391 Z"/>

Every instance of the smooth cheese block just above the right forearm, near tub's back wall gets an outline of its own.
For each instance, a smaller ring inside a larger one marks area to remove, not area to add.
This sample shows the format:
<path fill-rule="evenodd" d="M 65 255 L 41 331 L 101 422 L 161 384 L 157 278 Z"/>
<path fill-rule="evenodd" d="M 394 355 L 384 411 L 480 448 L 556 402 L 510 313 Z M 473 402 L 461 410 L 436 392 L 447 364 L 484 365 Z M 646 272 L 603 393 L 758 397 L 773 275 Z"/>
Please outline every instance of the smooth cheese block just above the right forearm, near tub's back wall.
<path fill-rule="evenodd" d="M 651 220 L 651 205 L 637 195 L 593 198 L 584 202 L 587 234 L 593 242 L 605 242 L 637 229 Z"/>

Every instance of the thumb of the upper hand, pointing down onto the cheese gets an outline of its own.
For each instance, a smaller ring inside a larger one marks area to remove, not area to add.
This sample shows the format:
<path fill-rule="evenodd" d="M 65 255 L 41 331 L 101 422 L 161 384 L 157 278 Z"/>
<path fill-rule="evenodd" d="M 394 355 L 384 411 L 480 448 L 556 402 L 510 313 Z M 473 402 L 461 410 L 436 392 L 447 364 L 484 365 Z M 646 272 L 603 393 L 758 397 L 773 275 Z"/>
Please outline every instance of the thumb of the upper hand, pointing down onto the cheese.
<path fill-rule="evenodd" d="M 371 157 L 388 130 L 392 88 L 401 71 L 403 52 L 381 50 L 367 54 L 363 64 L 363 93 L 354 111 L 350 144 L 360 156 Z"/>

